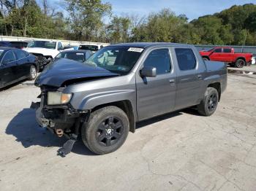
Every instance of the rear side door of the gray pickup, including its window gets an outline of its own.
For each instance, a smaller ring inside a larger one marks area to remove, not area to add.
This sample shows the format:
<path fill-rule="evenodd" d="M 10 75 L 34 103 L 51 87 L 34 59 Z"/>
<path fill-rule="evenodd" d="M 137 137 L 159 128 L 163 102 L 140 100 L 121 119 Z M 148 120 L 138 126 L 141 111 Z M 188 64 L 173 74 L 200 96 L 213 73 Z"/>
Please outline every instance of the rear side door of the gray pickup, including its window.
<path fill-rule="evenodd" d="M 183 109 L 198 104 L 202 97 L 203 73 L 206 66 L 195 50 L 188 47 L 176 47 L 173 50 L 176 55 L 176 109 Z M 197 55 L 197 56 L 196 56 Z"/>

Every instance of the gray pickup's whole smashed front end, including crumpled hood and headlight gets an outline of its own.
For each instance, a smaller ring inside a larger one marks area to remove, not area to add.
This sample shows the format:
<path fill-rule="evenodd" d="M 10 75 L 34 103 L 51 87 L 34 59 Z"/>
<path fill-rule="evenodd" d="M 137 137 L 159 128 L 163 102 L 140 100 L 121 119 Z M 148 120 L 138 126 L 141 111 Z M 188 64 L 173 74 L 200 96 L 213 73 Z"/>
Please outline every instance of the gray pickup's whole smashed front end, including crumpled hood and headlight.
<path fill-rule="evenodd" d="M 72 106 L 75 93 L 67 91 L 66 88 L 86 80 L 116 76 L 118 74 L 99 67 L 60 58 L 50 63 L 37 77 L 34 85 L 41 89 L 38 96 L 41 101 L 33 103 L 31 107 L 36 109 L 37 122 L 41 127 L 69 139 L 59 150 L 60 155 L 67 155 L 71 151 L 80 133 L 80 126 L 90 114 L 90 110 L 78 110 Z"/>

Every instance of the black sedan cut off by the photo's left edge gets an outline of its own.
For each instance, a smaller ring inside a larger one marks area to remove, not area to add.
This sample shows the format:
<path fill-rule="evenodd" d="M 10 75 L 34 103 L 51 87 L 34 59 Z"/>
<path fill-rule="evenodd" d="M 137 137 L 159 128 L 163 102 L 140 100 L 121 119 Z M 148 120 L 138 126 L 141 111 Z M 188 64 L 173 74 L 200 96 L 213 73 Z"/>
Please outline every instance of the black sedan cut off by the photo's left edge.
<path fill-rule="evenodd" d="M 0 47 L 0 88 L 37 77 L 37 58 L 24 50 Z"/>

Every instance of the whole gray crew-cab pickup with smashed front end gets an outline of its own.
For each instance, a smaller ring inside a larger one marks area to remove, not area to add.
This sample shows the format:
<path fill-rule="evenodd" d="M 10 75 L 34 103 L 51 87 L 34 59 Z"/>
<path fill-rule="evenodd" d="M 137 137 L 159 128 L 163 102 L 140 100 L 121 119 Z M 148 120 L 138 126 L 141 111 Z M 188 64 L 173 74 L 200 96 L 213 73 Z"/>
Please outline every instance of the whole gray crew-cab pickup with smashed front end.
<path fill-rule="evenodd" d="M 227 86 L 225 63 L 203 61 L 194 46 L 129 43 L 104 47 L 85 63 L 56 59 L 37 77 L 37 121 L 69 140 L 81 135 L 92 152 L 113 152 L 136 122 L 191 106 L 203 116 L 217 109 Z"/>

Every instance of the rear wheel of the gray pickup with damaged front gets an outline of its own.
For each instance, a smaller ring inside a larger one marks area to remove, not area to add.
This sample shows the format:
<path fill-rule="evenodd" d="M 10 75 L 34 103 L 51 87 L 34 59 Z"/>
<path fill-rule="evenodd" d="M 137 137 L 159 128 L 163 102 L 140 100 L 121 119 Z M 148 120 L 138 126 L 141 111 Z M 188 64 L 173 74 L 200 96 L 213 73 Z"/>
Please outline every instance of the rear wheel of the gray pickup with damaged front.
<path fill-rule="evenodd" d="M 197 105 L 197 111 L 203 116 L 211 116 L 217 109 L 219 93 L 214 87 L 207 87 L 203 101 Z"/>

